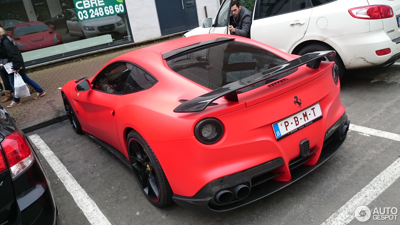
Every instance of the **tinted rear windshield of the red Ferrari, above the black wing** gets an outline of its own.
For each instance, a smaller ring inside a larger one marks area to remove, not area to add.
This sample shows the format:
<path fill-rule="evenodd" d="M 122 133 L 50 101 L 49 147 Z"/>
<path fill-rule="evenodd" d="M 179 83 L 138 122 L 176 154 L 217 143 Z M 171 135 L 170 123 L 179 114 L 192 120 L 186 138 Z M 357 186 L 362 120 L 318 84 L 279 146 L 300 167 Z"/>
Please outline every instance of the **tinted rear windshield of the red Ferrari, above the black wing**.
<path fill-rule="evenodd" d="M 285 62 L 288 61 L 272 52 L 237 41 L 204 47 L 167 60 L 172 70 L 212 90 Z"/>

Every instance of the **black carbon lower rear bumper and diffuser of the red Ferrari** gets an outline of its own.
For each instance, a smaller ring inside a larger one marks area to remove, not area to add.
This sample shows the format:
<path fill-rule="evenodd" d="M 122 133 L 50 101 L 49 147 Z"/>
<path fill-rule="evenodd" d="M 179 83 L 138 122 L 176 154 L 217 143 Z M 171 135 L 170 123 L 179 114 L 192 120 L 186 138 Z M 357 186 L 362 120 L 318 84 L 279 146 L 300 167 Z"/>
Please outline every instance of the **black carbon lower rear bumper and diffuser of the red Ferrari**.
<path fill-rule="evenodd" d="M 228 211 L 262 199 L 294 183 L 328 160 L 346 139 L 346 132 L 344 135 L 342 133 L 343 126 L 346 122 L 350 123 L 350 121 L 347 120 L 346 113 L 344 113 L 344 115 L 326 131 L 322 151 L 316 164 L 303 165 L 315 156 L 313 152 L 304 158 L 296 158 L 288 162 L 292 178 L 290 181 L 273 180 L 274 177 L 280 175 L 280 173 L 276 173 L 276 170 L 284 165 L 283 159 L 278 157 L 256 167 L 215 179 L 205 185 L 192 197 L 174 194 L 172 199 L 183 207 L 207 212 Z M 234 186 L 240 184 L 250 187 L 251 190 L 248 197 L 242 200 L 237 199 L 236 201 L 234 199 L 228 204 L 218 204 L 214 201 L 214 197 L 218 191 L 224 189 L 230 190 L 233 189 Z"/>

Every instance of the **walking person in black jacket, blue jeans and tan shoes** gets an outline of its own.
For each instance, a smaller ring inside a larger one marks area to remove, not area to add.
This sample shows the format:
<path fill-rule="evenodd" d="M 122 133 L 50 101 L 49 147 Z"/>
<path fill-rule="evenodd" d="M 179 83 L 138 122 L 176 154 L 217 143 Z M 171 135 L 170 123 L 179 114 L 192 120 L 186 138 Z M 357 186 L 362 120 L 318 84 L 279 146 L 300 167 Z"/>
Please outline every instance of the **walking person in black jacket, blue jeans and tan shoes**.
<path fill-rule="evenodd" d="M 22 54 L 16 46 L 16 42 L 12 40 L 9 36 L 7 36 L 6 30 L 4 30 L 3 28 L 0 28 L 0 59 L 8 59 L 8 62 L 12 62 L 12 69 L 14 73 L 19 73 L 22 77 L 22 80 L 24 80 L 25 83 L 29 84 L 36 90 L 37 93 L 34 99 L 40 98 L 42 95 L 46 94 L 46 92 L 44 92 L 44 90 L 40 88 L 40 86 L 36 84 L 36 82 L 31 80 L 28 75 L 26 75 Z M 10 83 L 13 90 L 14 73 L 9 74 Z M 21 104 L 20 98 L 15 98 L 14 96 L 14 100 L 7 107 L 11 108 L 19 104 Z"/>

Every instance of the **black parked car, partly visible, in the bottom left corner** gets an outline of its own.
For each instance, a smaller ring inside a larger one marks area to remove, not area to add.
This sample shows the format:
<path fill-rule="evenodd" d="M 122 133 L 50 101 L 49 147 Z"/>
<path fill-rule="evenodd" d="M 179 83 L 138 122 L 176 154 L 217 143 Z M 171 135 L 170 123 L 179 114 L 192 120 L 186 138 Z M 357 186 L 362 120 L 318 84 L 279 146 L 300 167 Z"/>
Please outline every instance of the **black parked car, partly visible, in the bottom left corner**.
<path fill-rule="evenodd" d="M 0 225 L 56 225 L 57 209 L 36 152 L 0 106 Z"/>

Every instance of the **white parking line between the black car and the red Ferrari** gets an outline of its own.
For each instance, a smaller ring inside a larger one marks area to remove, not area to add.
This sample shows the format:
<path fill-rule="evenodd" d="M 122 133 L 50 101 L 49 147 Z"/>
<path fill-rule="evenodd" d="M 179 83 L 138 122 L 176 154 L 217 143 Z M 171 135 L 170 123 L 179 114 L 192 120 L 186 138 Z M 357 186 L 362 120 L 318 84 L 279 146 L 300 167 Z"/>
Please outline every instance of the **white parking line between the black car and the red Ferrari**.
<path fill-rule="evenodd" d="M 61 161 L 54 155 L 50 148 L 44 143 L 39 135 L 29 136 L 32 143 L 36 145 L 40 153 L 47 160 L 50 167 L 56 172 L 58 178 L 62 181 L 67 191 L 72 195 L 76 205 L 82 210 L 90 224 L 92 225 L 111 225 L 110 221 L 97 207 L 96 203 L 88 194 L 80 187 L 67 168 L 62 165 Z"/>

